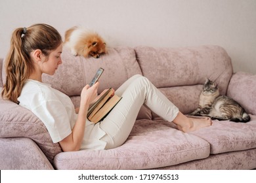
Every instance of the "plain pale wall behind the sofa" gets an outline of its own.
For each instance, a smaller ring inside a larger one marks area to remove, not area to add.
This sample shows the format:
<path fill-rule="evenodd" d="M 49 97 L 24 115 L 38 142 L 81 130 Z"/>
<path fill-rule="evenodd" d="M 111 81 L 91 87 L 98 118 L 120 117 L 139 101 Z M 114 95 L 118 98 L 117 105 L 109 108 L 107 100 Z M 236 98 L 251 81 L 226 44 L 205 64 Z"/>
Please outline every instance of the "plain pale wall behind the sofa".
<path fill-rule="evenodd" d="M 255 0 L 0 0 L 0 58 L 12 31 L 35 23 L 51 24 L 62 36 L 83 25 L 114 46 L 217 44 L 234 71 L 256 74 Z"/>

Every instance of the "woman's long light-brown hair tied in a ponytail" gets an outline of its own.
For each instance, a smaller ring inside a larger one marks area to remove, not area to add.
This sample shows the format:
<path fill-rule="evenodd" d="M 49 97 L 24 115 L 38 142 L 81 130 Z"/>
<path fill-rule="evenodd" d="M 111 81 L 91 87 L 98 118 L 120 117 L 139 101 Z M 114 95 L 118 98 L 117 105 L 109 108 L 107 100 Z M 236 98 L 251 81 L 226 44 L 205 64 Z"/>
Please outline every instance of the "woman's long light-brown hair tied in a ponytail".
<path fill-rule="evenodd" d="M 34 71 L 30 58 L 33 50 L 39 49 L 47 57 L 61 43 L 60 33 L 51 25 L 35 24 L 28 28 L 15 29 L 11 37 L 11 48 L 5 59 L 6 82 L 3 86 L 3 98 L 18 103 L 22 87 Z"/>

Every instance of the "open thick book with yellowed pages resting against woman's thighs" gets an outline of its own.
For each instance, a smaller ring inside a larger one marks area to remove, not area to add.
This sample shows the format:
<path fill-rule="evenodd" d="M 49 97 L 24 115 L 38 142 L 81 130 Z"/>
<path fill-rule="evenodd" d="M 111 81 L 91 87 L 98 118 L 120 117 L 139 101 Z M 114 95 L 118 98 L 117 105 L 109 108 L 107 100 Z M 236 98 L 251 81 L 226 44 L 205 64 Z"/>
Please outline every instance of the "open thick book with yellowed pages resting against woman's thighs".
<path fill-rule="evenodd" d="M 113 90 L 110 88 L 96 103 L 89 108 L 87 112 L 87 118 L 93 123 L 98 123 L 108 115 L 110 110 L 116 106 L 116 104 L 121 100 L 121 97 L 113 95 Z"/>

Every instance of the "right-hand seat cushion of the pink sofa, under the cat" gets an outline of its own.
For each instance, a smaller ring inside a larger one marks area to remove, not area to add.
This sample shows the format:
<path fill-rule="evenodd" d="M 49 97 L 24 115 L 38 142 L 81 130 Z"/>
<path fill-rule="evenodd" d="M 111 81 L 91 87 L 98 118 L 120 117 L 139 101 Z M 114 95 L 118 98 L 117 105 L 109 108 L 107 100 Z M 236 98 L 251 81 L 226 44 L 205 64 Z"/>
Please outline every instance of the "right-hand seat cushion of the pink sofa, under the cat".
<path fill-rule="evenodd" d="M 247 123 L 213 120 L 213 125 L 190 132 L 211 144 L 211 154 L 256 148 L 256 116 Z"/>

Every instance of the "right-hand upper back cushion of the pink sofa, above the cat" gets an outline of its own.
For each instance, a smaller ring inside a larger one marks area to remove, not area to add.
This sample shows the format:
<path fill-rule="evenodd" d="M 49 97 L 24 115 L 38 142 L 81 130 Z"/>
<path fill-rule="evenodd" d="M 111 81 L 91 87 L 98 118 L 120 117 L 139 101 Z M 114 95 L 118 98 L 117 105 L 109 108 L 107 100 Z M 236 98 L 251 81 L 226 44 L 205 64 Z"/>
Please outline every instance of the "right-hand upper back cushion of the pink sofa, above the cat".
<path fill-rule="evenodd" d="M 135 52 L 142 74 L 158 88 L 203 84 L 209 78 L 225 94 L 232 76 L 231 60 L 220 46 L 138 46 Z"/>

